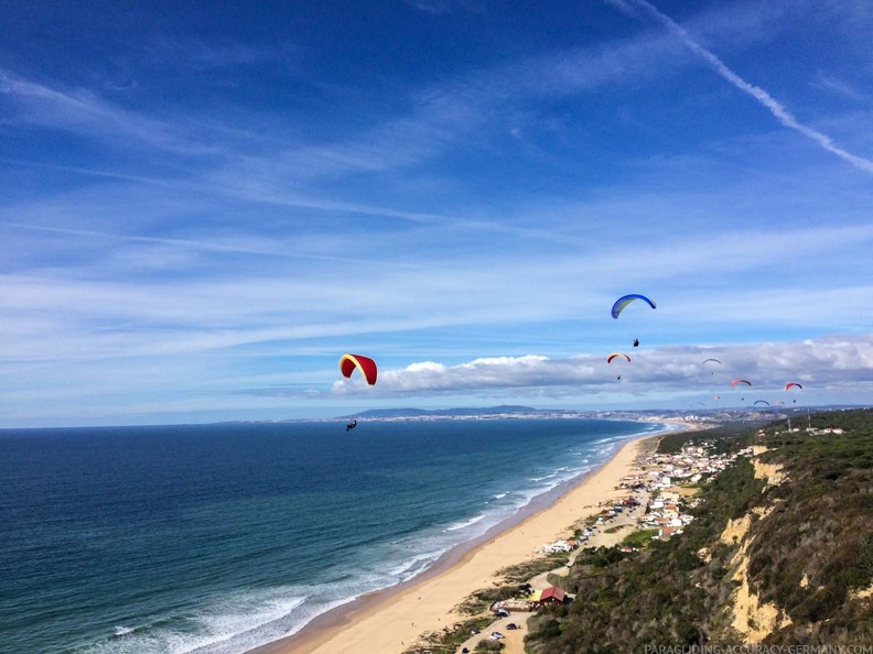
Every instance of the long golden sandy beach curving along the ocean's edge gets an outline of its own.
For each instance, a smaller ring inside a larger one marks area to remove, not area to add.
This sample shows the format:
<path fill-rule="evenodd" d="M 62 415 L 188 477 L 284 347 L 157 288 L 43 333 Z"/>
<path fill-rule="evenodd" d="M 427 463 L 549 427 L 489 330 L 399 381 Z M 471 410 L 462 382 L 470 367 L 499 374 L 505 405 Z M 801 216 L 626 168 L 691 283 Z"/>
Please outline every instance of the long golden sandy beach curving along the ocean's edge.
<path fill-rule="evenodd" d="M 625 444 L 612 459 L 550 505 L 460 557 L 438 565 L 430 574 L 363 598 L 351 607 L 316 619 L 301 633 L 256 652 L 400 654 L 424 633 L 439 632 L 461 621 L 464 617 L 455 607 L 474 591 L 494 586 L 500 569 L 541 556 L 537 554 L 539 547 L 571 535 L 573 525 L 595 513 L 602 502 L 627 497 L 626 490 L 617 490 L 621 479 L 632 473 L 645 444 L 650 446 L 657 438 L 648 436 Z M 589 543 L 597 544 L 601 543 Z"/>

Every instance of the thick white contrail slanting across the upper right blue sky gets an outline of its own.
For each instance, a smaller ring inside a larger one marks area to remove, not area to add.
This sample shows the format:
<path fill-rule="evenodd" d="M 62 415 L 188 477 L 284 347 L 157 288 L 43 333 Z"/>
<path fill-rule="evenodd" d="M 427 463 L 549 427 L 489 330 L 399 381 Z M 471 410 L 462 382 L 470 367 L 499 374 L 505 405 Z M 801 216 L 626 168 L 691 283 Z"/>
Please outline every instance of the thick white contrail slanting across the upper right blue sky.
<path fill-rule="evenodd" d="M 770 113 L 778 120 L 783 126 L 793 129 L 795 131 L 800 132 L 807 139 L 811 139 L 821 148 L 827 150 L 828 152 L 836 154 L 840 159 L 845 162 L 849 162 L 856 168 L 864 171 L 865 173 L 873 173 L 873 161 L 869 159 L 864 159 L 863 156 L 858 156 L 852 154 L 851 152 L 847 152 L 839 145 L 833 143 L 833 139 L 831 139 L 827 134 L 822 134 L 818 130 L 815 130 L 810 127 L 805 126 L 800 121 L 798 121 L 791 113 L 783 107 L 773 96 L 770 96 L 767 91 L 763 88 L 755 86 L 753 84 L 748 84 L 745 79 L 740 77 L 736 73 L 731 70 L 724 62 L 722 62 L 719 57 L 708 51 L 705 47 L 700 45 L 697 41 L 694 41 L 688 32 L 686 32 L 679 24 L 677 24 L 670 17 L 661 13 L 656 7 L 646 2 L 646 0 L 611 0 L 613 4 L 618 7 L 618 9 L 626 11 L 628 7 L 635 7 L 637 9 L 642 9 L 646 13 L 648 13 L 651 18 L 660 22 L 664 26 L 666 26 L 670 32 L 676 34 L 682 43 L 688 46 L 688 48 L 693 52 L 694 54 L 700 55 L 703 59 L 710 64 L 715 72 L 724 77 L 728 81 L 734 85 L 744 94 L 747 94 L 755 98 L 761 105 L 763 105 L 766 109 L 769 110 Z"/>

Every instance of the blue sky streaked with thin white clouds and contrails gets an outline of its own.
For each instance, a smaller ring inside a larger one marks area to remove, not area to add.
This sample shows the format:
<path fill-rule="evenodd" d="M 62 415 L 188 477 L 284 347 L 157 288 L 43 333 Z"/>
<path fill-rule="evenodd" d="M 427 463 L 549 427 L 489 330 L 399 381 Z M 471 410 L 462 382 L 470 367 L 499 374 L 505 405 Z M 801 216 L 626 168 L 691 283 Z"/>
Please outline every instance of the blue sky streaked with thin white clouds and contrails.
<path fill-rule="evenodd" d="M 0 427 L 870 404 L 871 33 L 866 0 L 3 2 Z"/>

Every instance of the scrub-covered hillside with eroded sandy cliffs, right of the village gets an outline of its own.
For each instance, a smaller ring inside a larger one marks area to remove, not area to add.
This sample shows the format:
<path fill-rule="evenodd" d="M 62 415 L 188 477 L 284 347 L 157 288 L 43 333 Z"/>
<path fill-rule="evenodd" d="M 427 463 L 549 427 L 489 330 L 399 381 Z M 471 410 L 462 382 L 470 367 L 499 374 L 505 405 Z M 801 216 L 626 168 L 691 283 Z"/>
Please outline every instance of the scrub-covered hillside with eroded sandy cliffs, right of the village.
<path fill-rule="evenodd" d="M 873 643 L 873 411 L 802 422 L 703 433 L 755 454 L 703 484 L 683 534 L 584 552 L 559 580 L 575 601 L 531 619 L 527 651 Z"/>

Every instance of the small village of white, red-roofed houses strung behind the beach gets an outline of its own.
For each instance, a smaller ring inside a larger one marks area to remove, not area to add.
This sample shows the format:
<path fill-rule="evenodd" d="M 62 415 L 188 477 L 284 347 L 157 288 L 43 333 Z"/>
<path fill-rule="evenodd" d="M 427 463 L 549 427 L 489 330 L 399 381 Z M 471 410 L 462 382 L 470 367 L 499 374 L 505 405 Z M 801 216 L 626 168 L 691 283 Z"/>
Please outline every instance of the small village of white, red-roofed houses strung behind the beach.
<path fill-rule="evenodd" d="M 624 544 L 628 535 L 642 533 L 650 539 L 666 541 L 679 536 L 693 520 L 687 511 L 701 502 L 696 495 L 701 484 L 731 466 L 737 457 L 753 455 L 753 448 L 732 455 L 711 454 L 710 443 L 686 445 L 677 454 L 640 455 L 632 473 L 623 477 L 615 488 L 615 497 L 597 505 L 581 524 L 574 525 L 572 537 L 545 543 L 537 555 L 569 554 L 565 565 L 537 575 L 519 586 L 517 597 L 494 602 L 491 611 L 497 619 L 489 635 L 473 633 L 457 650 L 473 652 L 487 637 L 502 641 L 506 654 L 524 654 L 527 619 L 551 603 L 568 603 L 573 598 L 562 588 L 549 584 L 549 577 L 564 575 L 584 548 L 617 547 L 633 553 L 639 547 Z"/>

